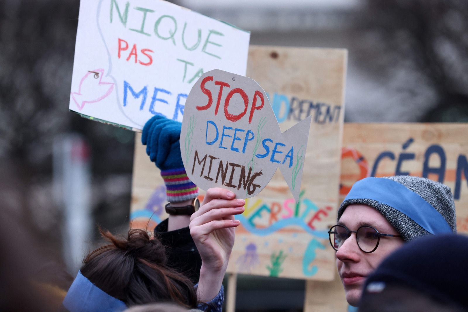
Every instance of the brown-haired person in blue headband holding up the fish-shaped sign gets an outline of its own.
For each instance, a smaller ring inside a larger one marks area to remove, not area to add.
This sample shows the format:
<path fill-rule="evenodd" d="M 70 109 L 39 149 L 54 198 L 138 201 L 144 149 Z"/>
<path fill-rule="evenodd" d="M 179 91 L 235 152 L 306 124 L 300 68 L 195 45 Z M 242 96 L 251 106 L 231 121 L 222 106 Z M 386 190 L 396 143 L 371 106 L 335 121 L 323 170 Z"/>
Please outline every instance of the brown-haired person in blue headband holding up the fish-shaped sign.
<path fill-rule="evenodd" d="M 234 215 L 244 211 L 243 199 L 226 189 L 209 189 L 191 216 L 190 233 L 202 259 L 200 279 L 170 268 L 166 248 L 140 229 L 118 239 L 102 231 L 110 245 L 90 253 L 63 302 L 70 312 L 122 311 L 127 306 L 173 302 L 202 311 L 221 311 L 222 281 L 234 245 Z"/>

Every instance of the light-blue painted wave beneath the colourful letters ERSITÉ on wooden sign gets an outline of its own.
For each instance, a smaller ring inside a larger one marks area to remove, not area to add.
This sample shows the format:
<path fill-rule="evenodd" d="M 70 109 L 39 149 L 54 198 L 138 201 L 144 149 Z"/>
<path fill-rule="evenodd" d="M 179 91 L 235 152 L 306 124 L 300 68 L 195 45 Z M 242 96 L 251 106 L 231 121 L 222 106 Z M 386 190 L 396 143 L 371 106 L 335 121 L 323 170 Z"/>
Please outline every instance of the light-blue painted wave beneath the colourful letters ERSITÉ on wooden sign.
<path fill-rule="evenodd" d="M 321 239 L 328 239 L 328 231 L 323 230 L 323 231 L 316 231 L 312 230 L 305 222 L 304 220 L 300 218 L 287 218 L 287 219 L 281 219 L 278 222 L 272 224 L 271 226 L 263 229 L 257 229 L 256 227 L 252 226 L 247 220 L 242 215 L 237 215 L 236 220 L 241 221 L 242 225 L 245 227 L 245 229 L 253 234 L 256 234 L 258 236 L 266 236 L 270 235 L 273 232 L 277 232 L 281 230 L 284 227 L 287 226 L 292 226 L 292 225 L 299 225 L 302 229 L 304 229 L 307 233 L 314 235 L 317 238 Z"/>

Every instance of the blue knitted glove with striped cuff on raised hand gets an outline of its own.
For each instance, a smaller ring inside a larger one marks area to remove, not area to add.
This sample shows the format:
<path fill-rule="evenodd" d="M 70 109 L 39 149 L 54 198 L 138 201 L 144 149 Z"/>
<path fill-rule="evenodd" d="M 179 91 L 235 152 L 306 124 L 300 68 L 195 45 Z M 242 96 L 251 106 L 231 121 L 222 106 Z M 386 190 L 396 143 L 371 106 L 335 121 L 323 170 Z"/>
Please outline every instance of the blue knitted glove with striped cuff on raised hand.
<path fill-rule="evenodd" d="M 163 116 L 154 116 L 143 127 L 141 143 L 146 145 L 149 159 L 161 169 L 169 202 L 183 202 L 198 196 L 197 186 L 185 172 L 180 154 L 182 123 Z"/>

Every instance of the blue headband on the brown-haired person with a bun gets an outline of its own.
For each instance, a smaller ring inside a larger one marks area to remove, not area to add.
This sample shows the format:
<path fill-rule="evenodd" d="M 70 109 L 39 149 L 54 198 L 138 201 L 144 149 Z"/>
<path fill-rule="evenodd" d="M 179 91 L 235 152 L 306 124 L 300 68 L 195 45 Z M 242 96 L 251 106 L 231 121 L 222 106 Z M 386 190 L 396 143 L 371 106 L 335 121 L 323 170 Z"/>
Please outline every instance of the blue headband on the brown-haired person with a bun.
<path fill-rule="evenodd" d="M 70 312 L 117 312 L 127 307 L 123 301 L 110 296 L 78 272 L 63 300 Z"/>

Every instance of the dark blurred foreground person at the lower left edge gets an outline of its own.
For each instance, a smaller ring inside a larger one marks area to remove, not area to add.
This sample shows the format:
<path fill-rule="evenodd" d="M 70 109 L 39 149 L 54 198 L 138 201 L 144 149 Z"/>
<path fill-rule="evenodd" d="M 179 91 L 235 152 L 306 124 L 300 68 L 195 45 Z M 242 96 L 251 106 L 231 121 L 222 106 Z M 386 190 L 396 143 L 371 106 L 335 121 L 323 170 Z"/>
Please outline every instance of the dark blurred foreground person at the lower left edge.
<path fill-rule="evenodd" d="M 38 207 L 28 206 L 27 179 L 15 168 L 0 166 L 0 311 L 58 311 L 73 277 L 34 223 L 29 209 Z"/>

